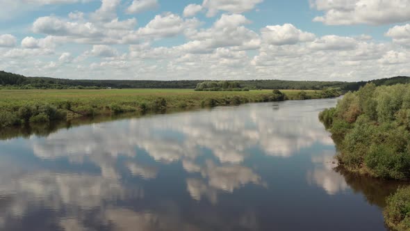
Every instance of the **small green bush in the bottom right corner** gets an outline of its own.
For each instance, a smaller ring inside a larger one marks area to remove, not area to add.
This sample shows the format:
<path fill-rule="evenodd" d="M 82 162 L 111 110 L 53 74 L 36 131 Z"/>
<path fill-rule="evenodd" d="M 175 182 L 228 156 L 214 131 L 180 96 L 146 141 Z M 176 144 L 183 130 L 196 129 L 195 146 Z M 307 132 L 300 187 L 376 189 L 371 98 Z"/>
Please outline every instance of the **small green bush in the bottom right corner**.
<path fill-rule="evenodd" d="M 393 230 L 410 230 L 410 186 L 397 189 L 387 198 L 383 214 L 386 225 Z"/>

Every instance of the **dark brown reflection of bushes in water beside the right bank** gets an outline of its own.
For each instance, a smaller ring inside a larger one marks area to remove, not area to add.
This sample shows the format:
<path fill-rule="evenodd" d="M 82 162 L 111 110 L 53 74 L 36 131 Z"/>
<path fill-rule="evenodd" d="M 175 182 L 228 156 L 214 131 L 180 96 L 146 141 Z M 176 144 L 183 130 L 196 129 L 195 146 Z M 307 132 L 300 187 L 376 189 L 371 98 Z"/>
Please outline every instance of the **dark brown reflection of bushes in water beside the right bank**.
<path fill-rule="evenodd" d="M 355 193 L 363 193 L 366 201 L 370 205 L 377 205 L 384 208 L 386 206 L 386 198 L 397 190 L 398 186 L 408 184 L 394 180 L 381 180 L 373 177 L 350 173 L 344 168 L 338 167 L 335 169 L 345 177 L 346 183 L 352 188 Z"/>

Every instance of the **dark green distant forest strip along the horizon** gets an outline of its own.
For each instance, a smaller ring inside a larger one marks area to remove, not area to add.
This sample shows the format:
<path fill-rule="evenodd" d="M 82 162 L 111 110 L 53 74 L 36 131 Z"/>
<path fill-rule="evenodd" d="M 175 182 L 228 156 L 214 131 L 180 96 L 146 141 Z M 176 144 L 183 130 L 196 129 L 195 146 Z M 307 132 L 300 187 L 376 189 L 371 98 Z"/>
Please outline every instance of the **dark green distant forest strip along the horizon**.
<path fill-rule="evenodd" d="M 204 80 L 77 80 L 54 79 L 48 77 L 25 77 L 20 74 L 0 71 L 0 88 L 8 89 L 100 89 L 100 88 L 185 88 L 195 89 Z M 322 90 L 325 88 L 341 88 L 343 91 L 359 90 L 366 83 L 376 86 L 410 83 L 410 77 L 393 77 L 372 81 L 287 81 L 287 80 L 242 80 L 235 81 L 241 88 L 249 89 L 300 89 Z"/>

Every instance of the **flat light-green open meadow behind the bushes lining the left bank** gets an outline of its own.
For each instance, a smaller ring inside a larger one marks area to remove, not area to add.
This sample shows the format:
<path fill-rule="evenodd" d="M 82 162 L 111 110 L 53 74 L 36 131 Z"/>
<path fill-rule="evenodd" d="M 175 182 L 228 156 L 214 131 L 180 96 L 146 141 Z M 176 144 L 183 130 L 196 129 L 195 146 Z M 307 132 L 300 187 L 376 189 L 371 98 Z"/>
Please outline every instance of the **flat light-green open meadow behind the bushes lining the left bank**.
<path fill-rule="evenodd" d="M 300 90 L 281 90 L 289 99 L 296 99 Z M 319 97 L 320 91 L 305 90 L 309 98 Z M 71 102 L 72 109 L 91 106 L 106 109 L 113 104 L 136 107 L 142 104 L 147 109 L 156 99 L 166 100 L 166 108 L 184 108 L 198 106 L 218 106 L 231 104 L 229 99 L 240 97 L 241 102 L 264 102 L 272 95 L 272 90 L 251 90 L 249 92 L 195 92 L 187 89 L 115 89 L 115 90 L 0 90 L 0 109 L 14 111 L 15 107 L 26 104 L 48 103 L 63 108 L 63 103 Z M 208 105 L 215 99 L 215 105 Z M 247 100 L 246 100 L 247 99 Z M 228 103 L 229 102 L 229 103 Z M 237 104 L 233 103 L 232 104 Z M 103 110 L 105 111 L 105 110 Z"/>

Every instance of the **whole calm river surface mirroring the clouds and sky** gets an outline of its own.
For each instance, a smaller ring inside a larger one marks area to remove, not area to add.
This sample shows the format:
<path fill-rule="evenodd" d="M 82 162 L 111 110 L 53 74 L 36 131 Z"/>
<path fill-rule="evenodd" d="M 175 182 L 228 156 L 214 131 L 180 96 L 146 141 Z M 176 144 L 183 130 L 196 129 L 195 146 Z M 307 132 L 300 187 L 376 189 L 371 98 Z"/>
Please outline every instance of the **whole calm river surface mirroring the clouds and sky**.
<path fill-rule="evenodd" d="M 245 104 L 0 141 L 0 230 L 386 230 L 397 183 L 335 169 L 318 113 Z"/>

